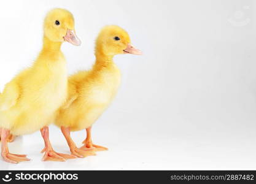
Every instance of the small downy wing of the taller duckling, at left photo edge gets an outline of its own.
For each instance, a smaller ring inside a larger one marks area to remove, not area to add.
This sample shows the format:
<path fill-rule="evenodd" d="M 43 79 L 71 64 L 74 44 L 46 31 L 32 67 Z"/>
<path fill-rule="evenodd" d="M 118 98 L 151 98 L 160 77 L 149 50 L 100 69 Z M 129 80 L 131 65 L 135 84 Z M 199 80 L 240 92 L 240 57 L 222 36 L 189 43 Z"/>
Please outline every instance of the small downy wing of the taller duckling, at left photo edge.
<path fill-rule="evenodd" d="M 17 103 L 20 96 L 20 88 L 16 82 L 6 84 L 4 91 L 0 94 L 0 110 L 7 110 Z"/>

